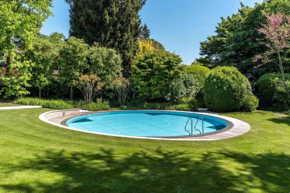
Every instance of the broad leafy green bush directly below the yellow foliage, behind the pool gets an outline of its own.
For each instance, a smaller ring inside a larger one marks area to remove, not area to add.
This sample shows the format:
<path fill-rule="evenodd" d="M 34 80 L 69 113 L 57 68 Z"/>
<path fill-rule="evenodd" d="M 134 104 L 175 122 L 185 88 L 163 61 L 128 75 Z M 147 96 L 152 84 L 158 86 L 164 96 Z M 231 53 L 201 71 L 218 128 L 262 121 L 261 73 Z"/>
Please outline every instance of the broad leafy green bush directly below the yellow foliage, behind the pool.
<path fill-rule="evenodd" d="M 179 74 L 181 58 L 164 50 L 141 54 L 132 65 L 133 86 L 146 99 L 163 99 L 170 82 Z"/>

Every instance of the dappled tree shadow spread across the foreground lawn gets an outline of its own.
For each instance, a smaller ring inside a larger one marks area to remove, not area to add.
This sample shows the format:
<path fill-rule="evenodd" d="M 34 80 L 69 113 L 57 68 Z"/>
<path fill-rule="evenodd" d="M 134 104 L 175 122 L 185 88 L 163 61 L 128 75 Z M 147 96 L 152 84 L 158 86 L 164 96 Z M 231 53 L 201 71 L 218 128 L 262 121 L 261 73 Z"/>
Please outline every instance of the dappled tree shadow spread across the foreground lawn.
<path fill-rule="evenodd" d="M 6 174 L 32 170 L 39 180 L 33 184 L 0 182 L 0 188 L 24 192 L 287 192 L 289 160 L 285 154 L 229 151 L 193 157 L 189 152 L 161 148 L 131 154 L 112 149 L 99 153 L 46 151 L 18 166 L 6 166 Z M 41 171 L 50 175 L 42 176 Z M 58 178 L 53 179 L 55 176 Z"/>

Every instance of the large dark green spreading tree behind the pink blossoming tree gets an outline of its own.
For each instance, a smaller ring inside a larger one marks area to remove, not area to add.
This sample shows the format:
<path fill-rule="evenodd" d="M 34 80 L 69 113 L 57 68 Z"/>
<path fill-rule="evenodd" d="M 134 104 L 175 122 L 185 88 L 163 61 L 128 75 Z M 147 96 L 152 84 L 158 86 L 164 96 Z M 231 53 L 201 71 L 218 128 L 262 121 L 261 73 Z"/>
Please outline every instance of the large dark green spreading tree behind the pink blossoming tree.
<path fill-rule="evenodd" d="M 254 73 L 257 76 L 276 72 L 274 64 L 256 68 L 259 64 L 253 63 L 253 59 L 255 55 L 266 51 L 266 47 L 259 43 L 262 34 L 256 30 L 265 20 L 263 13 L 277 12 L 289 15 L 290 0 L 264 1 L 256 3 L 253 8 L 241 3 L 238 13 L 227 18 L 221 17 L 221 22 L 216 26 L 216 35 L 201 42 L 200 54 L 203 57 L 197 61 L 210 68 L 235 66 L 242 73 Z M 290 57 L 290 51 L 285 54 Z M 289 61 L 284 63 L 286 71 L 289 71 L 289 64 Z"/>

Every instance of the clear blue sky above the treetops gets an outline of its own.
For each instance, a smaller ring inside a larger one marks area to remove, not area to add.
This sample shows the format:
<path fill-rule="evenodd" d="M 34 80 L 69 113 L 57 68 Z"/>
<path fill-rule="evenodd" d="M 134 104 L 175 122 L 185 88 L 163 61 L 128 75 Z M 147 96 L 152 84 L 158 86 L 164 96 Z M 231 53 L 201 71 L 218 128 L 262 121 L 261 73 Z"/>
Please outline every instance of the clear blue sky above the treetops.
<path fill-rule="evenodd" d="M 146 23 L 151 38 L 161 42 L 165 49 L 180 55 L 184 64 L 199 58 L 199 42 L 215 34 L 220 17 L 238 12 L 239 2 L 250 7 L 263 0 L 147 0 L 140 11 L 142 24 Z M 50 17 L 41 28 L 49 35 L 54 31 L 68 37 L 69 12 L 64 0 L 54 0 Z"/>

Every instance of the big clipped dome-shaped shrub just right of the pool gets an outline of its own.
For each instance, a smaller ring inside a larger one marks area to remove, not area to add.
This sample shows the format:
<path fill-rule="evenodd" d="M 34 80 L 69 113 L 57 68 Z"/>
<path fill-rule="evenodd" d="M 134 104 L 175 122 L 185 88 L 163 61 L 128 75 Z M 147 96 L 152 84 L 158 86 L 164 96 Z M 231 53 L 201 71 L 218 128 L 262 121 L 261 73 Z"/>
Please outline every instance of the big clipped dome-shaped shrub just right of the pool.
<path fill-rule="evenodd" d="M 204 100 L 210 111 L 240 111 L 252 95 L 248 79 L 234 67 L 217 67 L 210 71 L 204 82 Z M 256 104 L 253 102 L 253 104 Z M 251 105 L 249 105 L 251 106 Z M 255 109 L 257 106 L 250 108 Z M 249 109 L 249 107 L 248 107 Z"/>

